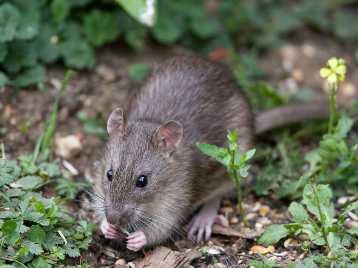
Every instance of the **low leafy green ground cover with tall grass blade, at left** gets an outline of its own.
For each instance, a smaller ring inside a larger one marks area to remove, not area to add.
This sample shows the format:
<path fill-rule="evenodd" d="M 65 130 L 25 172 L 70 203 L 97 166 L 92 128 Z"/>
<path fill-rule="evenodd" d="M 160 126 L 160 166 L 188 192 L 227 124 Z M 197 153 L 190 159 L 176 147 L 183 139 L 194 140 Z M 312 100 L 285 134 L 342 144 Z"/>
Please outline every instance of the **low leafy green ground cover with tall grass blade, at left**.
<path fill-rule="evenodd" d="M 6 160 L 4 144 L 1 144 L 1 268 L 62 267 L 63 264 L 74 268 L 66 264 L 66 258 L 78 257 L 79 250 L 88 249 L 92 241 L 92 232 L 97 225 L 84 220 L 74 225 L 76 222 L 61 205 L 64 200 L 73 199 L 81 186 L 88 185 L 68 183 L 64 178 L 68 178 L 70 174 L 62 172 L 56 161 L 45 161 L 50 155 L 48 145 L 54 134 L 58 98 L 71 75 L 72 71 L 69 71 L 63 81 L 52 118 L 44 123 L 32 155 L 20 155 L 18 161 Z M 40 150 L 42 154 L 39 157 Z M 41 189 L 50 183 L 61 184 L 61 188 L 58 190 L 58 196 L 45 198 Z"/>

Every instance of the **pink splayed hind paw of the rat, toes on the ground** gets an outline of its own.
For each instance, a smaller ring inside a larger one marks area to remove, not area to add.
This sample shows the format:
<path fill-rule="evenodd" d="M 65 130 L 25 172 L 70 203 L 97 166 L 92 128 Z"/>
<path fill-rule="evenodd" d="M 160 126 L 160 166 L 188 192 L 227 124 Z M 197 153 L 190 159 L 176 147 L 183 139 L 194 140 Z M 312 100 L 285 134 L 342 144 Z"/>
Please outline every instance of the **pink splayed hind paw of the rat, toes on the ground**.
<path fill-rule="evenodd" d="M 203 240 L 205 232 L 205 241 L 207 241 L 211 237 L 211 227 L 214 223 L 219 223 L 224 227 L 228 226 L 227 219 L 223 215 L 207 215 L 199 212 L 187 225 L 187 228 L 190 229 L 188 238 L 193 239 L 194 234 L 198 232 L 197 241 L 200 242 Z"/>

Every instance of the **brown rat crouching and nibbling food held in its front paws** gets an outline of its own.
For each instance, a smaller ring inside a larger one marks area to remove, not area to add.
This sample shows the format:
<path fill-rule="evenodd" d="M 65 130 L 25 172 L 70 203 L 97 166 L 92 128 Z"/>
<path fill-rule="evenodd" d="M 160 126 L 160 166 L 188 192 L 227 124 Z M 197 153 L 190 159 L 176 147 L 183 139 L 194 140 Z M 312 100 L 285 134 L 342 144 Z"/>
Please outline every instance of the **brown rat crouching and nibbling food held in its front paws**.
<path fill-rule="evenodd" d="M 120 108 L 110 115 L 110 142 L 95 168 L 103 233 L 120 237 L 119 227 L 130 233 L 127 248 L 152 247 L 168 240 L 201 207 L 188 224 L 189 237 L 198 233 L 199 241 L 208 239 L 214 222 L 227 225 L 217 210 L 234 186 L 226 169 L 196 143 L 227 147 L 226 130 L 238 129 L 236 143 L 246 152 L 253 147 L 255 128 L 269 128 L 265 116 L 273 115 L 262 113 L 254 123 L 231 72 L 189 57 L 155 67 L 133 107 L 127 118 Z"/>

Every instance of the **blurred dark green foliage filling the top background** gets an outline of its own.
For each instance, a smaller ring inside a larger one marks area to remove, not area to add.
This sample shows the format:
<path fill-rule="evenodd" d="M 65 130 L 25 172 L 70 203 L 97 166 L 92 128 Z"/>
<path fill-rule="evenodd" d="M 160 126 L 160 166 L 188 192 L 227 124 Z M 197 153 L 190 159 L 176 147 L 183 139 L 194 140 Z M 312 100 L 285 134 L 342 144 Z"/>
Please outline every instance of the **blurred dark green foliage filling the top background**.
<path fill-rule="evenodd" d="M 45 65 L 58 60 L 70 68 L 91 69 L 95 48 L 118 38 L 134 49 L 153 40 L 204 53 L 222 46 L 254 46 L 260 51 L 284 43 L 287 34 L 303 26 L 343 41 L 357 40 L 358 18 L 352 10 L 356 3 L 158 0 L 156 24 L 149 28 L 115 0 L 0 0 L 0 86 L 41 83 Z"/>

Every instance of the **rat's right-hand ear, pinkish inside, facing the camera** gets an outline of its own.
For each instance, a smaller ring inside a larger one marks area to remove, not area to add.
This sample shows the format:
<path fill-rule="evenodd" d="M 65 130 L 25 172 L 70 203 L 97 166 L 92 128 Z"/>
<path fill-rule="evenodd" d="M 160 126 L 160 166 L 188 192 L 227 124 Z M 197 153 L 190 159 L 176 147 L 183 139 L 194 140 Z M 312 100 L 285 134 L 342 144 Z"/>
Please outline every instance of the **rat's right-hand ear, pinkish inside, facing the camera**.
<path fill-rule="evenodd" d="M 163 146 L 166 153 L 174 151 L 176 145 L 180 143 L 183 135 L 183 126 L 177 121 L 168 121 L 159 128 L 156 141 Z"/>

